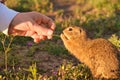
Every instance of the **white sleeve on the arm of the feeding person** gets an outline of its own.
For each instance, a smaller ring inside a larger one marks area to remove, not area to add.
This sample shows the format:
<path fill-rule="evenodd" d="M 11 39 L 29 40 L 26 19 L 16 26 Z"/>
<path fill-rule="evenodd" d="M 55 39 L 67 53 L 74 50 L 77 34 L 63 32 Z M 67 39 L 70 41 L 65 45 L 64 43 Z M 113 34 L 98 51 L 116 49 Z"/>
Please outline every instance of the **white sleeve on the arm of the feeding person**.
<path fill-rule="evenodd" d="M 8 27 L 12 19 L 18 14 L 18 12 L 7 8 L 4 4 L 0 3 L 0 31 L 8 34 Z"/>

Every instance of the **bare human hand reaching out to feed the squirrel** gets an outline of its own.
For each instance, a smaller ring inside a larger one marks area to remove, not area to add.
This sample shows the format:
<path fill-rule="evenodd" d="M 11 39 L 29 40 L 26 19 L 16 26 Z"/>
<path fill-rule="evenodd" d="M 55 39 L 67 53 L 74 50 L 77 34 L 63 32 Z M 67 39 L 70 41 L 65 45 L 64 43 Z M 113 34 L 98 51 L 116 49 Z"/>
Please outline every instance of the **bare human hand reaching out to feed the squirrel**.
<path fill-rule="evenodd" d="M 18 13 L 12 20 L 8 34 L 30 36 L 34 42 L 51 39 L 55 23 L 53 20 L 38 12 Z"/>

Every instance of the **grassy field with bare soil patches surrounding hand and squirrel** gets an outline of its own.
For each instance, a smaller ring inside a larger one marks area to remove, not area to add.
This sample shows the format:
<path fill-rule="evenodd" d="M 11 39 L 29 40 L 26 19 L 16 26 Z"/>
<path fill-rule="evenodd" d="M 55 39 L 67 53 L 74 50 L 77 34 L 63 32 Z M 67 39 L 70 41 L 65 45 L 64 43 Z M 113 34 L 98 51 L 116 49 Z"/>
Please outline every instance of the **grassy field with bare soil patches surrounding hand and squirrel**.
<path fill-rule="evenodd" d="M 38 11 L 56 23 L 52 40 L 0 33 L 0 80 L 93 80 L 89 68 L 65 49 L 60 34 L 82 26 L 91 38 L 105 38 L 120 50 L 119 0 L 7 0 L 19 12 Z"/>

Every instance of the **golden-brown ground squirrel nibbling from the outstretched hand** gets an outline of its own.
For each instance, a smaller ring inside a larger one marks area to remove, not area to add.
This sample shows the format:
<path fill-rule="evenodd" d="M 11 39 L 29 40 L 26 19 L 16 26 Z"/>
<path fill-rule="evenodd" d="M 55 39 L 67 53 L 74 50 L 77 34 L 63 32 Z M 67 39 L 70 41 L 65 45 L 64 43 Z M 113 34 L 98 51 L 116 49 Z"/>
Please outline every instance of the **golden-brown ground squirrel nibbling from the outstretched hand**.
<path fill-rule="evenodd" d="M 120 53 L 108 40 L 90 39 L 81 27 L 68 27 L 60 37 L 68 51 L 90 68 L 94 78 L 120 78 Z"/>

